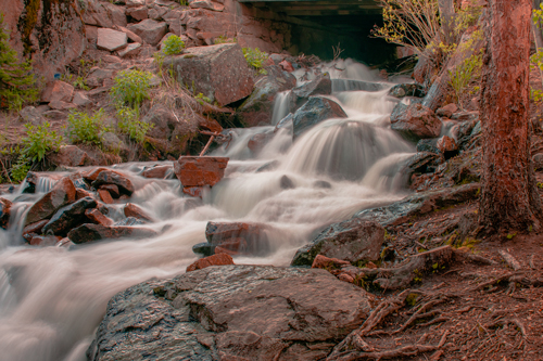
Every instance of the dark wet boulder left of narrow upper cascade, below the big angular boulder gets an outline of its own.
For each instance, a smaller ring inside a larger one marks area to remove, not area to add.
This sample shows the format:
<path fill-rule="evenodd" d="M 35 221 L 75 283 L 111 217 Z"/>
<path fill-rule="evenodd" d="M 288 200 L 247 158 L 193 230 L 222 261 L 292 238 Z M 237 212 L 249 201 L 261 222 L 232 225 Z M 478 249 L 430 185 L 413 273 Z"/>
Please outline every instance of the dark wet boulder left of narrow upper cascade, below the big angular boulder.
<path fill-rule="evenodd" d="M 267 76 L 256 81 L 254 91 L 238 108 L 248 127 L 268 125 L 272 121 L 277 93 L 290 90 L 296 85 L 296 78 L 277 65 L 268 66 L 266 70 Z"/>

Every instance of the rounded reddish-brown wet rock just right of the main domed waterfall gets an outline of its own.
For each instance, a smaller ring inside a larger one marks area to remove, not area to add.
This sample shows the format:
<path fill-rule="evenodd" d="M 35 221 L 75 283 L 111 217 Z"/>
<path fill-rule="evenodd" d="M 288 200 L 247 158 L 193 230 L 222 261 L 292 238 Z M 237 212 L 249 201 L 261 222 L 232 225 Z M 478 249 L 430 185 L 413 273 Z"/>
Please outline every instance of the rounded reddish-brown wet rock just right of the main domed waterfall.
<path fill-rule="evenodd" d="M 390 123 L 393 130 L 412 141 L 438 138 L 442 126 L 432 109 L 419 103 L 397 104 L 390 116 Z"/>

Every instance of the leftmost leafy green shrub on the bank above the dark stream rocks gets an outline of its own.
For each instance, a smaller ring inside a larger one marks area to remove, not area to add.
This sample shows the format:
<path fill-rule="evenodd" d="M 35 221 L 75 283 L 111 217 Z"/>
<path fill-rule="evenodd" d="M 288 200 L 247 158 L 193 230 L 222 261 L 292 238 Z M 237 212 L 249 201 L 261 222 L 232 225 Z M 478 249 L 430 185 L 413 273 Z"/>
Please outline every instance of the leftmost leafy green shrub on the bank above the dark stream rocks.
<path fill-rule="evenodd" d="M 62 136 L 51 130 L 51 125 L 46 121 L 41 126 L 25 125 L 26 137 L 23 138 L 21 154 L 29 160 L 41 160 L 49 151 L 58 151 L 62 144 Z"/>

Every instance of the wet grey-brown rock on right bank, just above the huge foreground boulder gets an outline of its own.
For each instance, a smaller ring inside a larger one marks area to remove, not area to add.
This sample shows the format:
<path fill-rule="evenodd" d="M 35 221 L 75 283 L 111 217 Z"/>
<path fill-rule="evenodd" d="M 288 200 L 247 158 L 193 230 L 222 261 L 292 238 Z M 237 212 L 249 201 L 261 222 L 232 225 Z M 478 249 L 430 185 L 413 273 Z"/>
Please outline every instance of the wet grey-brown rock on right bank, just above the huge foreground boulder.
<path fill-rule="evenodd" d="M 312 266 L 317 255 L 352 263 L 377 260 L 384 229 L 377 222 L 350 219 L 330 225 L 308 245 L 300 248 L 291 266 Z"/>

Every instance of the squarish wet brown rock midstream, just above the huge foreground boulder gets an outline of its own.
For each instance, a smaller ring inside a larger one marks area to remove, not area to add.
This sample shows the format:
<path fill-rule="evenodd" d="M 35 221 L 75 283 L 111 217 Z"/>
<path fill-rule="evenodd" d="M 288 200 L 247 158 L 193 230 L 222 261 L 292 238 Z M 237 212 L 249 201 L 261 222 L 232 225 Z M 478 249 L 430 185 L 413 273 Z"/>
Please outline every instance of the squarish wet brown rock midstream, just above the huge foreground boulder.
<path fill-rule="evenodd" d="M 270 244 L 269 227 L 261 223 L 207 222 L 205 238 L 215 247 L 241 255 L 266 255 Z"/>

